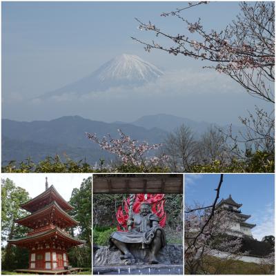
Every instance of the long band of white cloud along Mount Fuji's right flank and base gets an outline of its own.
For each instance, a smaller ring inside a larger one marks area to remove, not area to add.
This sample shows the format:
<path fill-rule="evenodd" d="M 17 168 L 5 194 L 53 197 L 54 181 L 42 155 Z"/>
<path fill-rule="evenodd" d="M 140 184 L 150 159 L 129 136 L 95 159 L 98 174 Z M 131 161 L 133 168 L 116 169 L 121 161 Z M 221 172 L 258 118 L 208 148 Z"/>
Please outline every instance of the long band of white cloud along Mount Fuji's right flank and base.
<path fill-rule="evenodd" d="M 139 87 L 115 87 L 105 91 L 91 91 L 83 95 L 64 93 L 50 97 L 52 101 L 87 101 L 97 99 L 130 99 L 132 97 L 170 97 L 177 95 L 201 95 L 208 93 L 239 92 L 237 84 L 215 71 L 168 71 L 157 81 Z"/>

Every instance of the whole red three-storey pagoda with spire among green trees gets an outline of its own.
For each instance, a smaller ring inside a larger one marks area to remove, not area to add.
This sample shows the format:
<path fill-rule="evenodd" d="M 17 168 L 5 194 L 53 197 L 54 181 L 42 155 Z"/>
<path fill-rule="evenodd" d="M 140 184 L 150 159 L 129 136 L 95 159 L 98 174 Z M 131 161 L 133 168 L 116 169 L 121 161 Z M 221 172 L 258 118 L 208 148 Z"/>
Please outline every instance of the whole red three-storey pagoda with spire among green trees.
<path fill-rule="evenodd" d="M 31 214 L 16 222 L 31 228 L 26 237 L 10 239 L 8 242 L 30 250 L 29 269 L 64 270 L 69 266 L 67 250 L 84 241 L 71 237 L 64 229 L 74 227 L 78 221 L 66 212 L 72 210 L 68 202 L 57 193 L 54 186 L 34 197 L 21 208 Z"/>

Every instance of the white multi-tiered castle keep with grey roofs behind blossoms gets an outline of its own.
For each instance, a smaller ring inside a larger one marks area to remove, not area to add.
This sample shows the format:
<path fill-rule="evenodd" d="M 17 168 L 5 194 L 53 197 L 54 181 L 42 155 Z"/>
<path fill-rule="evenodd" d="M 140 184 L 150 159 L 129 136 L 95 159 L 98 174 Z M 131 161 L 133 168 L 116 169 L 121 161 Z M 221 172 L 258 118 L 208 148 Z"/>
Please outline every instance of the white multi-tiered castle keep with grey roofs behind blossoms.
<path fill-rule="evenodd" d="M 246 222 L 250 215 L 242 214 L 242 211 L 239 208 L 242 207 L 242 204 L 237 204 L 231 195 L 227 199 L 221 199 L 217 204 L 217 208 L 222 208 L 224 210 L 229 210 L 231 212 L 235 212 L 237 216 L 237 220 L 233 222 L 233 225 L 228 230 L 228 235 L 233 235 L 236 237 L 249 237 L 253 239 L 253 235 L 251 233 L 251 229 L 256 226 L 256 224 L 248 224 Z"/>

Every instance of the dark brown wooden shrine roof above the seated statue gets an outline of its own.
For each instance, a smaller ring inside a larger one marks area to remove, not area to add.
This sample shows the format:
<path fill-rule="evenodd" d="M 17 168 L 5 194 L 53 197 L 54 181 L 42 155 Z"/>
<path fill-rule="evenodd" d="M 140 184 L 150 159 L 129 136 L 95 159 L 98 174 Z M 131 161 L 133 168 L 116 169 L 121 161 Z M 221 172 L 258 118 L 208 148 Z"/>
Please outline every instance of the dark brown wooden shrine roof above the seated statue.
<path fill-rule="evenodd" d="M 183 193 L 182 174 L 95 174 L 93 193 Z"/>

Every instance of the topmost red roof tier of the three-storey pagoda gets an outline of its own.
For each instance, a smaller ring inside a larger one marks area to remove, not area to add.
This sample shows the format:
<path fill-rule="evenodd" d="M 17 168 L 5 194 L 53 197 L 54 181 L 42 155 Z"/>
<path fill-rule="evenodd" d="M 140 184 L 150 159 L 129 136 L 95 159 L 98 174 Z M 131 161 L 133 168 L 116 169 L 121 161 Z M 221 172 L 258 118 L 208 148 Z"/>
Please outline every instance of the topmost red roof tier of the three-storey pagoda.
<path fill-rule="evenodd" d="M 43 200 L 46 200 L 46 201 L 50 200 L 50 197 L 52 197 L 53 200 L 57 201 L 57 203 L 63 210 L 66 211 L 66 210 L 74 209 L 73 206 L 71 206 L 65 199 L 63 199 L 63 197 L 61 197 L 61 195 L 59 195 L 59 193 L 57 192 L 57 190 L 55 189 L 55 187 L 53 185 L 51 185 L 49 188 L 47 188 L 40 195 L 37 195 L 37 197 L 34 197 L 33 199 L 30 199 L 25 204 L 22 204 L 21 208 L 33 213 L 33 212 L 39 210 L 39 208 L 40 208 L 39 202 L 41 202 Z M 50 202 L 48 202 L 47 204 L 49 204 L 49 203 Z"/>

